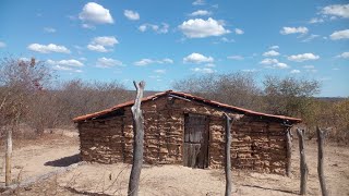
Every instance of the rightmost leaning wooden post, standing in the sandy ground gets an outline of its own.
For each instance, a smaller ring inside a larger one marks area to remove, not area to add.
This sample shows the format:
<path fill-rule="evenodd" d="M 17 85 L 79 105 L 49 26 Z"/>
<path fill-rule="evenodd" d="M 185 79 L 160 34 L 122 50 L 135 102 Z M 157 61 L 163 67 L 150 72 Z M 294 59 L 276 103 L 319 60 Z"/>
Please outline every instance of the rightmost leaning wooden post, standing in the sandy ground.
<path fill-rule="evenodd" d="M 327 196 L 327 189 L 326 189 L 326 182 L 325 182 L 325 175 L 324 175 L 324 131 L 320 130 L 320 127 L 316 127 L 317 133 L 317 174 L 318 174 L 318 181 L 321 186 L 321 192 L 323 196 Z"/>

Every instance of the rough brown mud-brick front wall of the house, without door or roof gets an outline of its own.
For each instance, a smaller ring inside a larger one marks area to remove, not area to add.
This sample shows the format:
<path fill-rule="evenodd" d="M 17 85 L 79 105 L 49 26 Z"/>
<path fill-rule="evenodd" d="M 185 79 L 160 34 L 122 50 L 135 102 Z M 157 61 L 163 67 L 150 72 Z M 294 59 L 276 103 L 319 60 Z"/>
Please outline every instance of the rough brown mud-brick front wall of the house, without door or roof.
<path fill-rule="evenodd" d="M 225 121 L 222 111 L 167 97 L 142 103 L 144 161 L 182 164 L 184 113 L 209 117 L 209 167 L 224 167 Z M 237 113 L 228 113 L 239 118 Z M 131 162 L 133 125 L 131 108 L 124 117 L 79 124 L 83 160 L 103 163 Z M 232 123 L 232 167 L 258 172 L 285 173 L 286 140 L 280 123 L 242 118 Z"/>

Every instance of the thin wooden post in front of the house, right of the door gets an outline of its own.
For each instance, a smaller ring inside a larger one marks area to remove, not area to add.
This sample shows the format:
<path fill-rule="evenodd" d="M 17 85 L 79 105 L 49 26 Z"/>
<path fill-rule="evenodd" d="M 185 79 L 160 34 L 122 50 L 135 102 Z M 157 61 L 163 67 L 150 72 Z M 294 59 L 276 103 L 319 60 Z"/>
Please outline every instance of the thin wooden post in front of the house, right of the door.
<path fill-rule="evenodd" d="M 231 157 L 230 157 L 230 145 L 231 145 L 231 119 L 225 113 L 226 118 L 226 196 L 231 195 Z"/>

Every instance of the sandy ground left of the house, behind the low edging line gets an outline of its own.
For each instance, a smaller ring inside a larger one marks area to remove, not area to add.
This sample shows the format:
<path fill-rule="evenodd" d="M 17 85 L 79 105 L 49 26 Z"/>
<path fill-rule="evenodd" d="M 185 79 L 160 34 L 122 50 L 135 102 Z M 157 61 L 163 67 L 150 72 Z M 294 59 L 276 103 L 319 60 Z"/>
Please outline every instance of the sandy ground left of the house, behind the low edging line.
<path fill-rule="evenodd" d="M 38 139 L 14 140 L 12 181 L 25 181 L 77 161 L 79 138 L 61 134 L 45 134 Z M 4 147 L 1 146 L 1 151 Z M 68 162 L 67 162 L 68 161 Z M 4 184 L 4 160 L 0 159 L 0 186 Z"/>

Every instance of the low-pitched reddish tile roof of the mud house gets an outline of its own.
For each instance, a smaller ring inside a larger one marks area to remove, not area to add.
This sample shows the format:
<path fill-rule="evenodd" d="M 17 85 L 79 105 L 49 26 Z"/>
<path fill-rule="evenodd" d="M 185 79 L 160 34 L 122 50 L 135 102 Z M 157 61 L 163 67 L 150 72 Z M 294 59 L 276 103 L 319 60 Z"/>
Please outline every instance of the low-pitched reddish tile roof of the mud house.
<path fill-rule="evenodd" d="M 146 101 L 149 101 L 149 100 L 155 100 L 156 98 L 163 97 L 163 96 L 166 96 L 166 95 L 174 95 L 174 96 L 178 96 L 178 97 L 182 97 L 182 98 L 185 98 L 185 99 L 198 101 L 198 102 L 202 102 L 202 103 L 205 103 L 205 105 L 209 105 L 209 106 L 213 106 L 213 107 L 232 110 L 232 111 L 245 114 L 245 115 L 266 117 L 266 118 L 272 118 L 272 119 L 286 120 L 286 121 L 289 121 L 291 123 L 299 123 L 299 122 L 302 121 L 301 119 L 291 118 L 291 117 L 274 115 L 274 114 L 256 112 L 256 111 L 248 110 L 248 109 L 244 109 L 244 108 L 239 108 L 239 107 L 221 103 L 221 102 L 218 102 L 218 101 L 205 99 L 205 98 L 202 98 L 202 97 L 193 96 L 193 95 L 190 95 L 190 94 L 180 93 L 180 91 L 172 91 L 172 90 L 167 90 L 167 91 L 154 94 L 154 95 L 148 96 L 148 97 L 144 97 L 144 98 L 142 98 L 142 102 L 146 102 Z M 89 113 L 89 114 L 85 114 L 85 115 L 81 115 L 81 117 L 74 118 L 73 122 L 81 122 L 81 121 L 85 121 L 85 120 L 89 120 L 89 119 L 95 119 L 95 118 L 108 114 L 108 113 L 110 113 L 112 111 L 122 109 L 124 107 L 133 106 L 133 103 L 134 103 L 134 100 L 127 101 L 127 102 L 117 105 L 117 106 L 111 107 L 111 108 L 106 109 L 106 110 L 101 110 L 101 111 L 98 111 L 98 112 L 94 112 L 94 113 Z"/>

